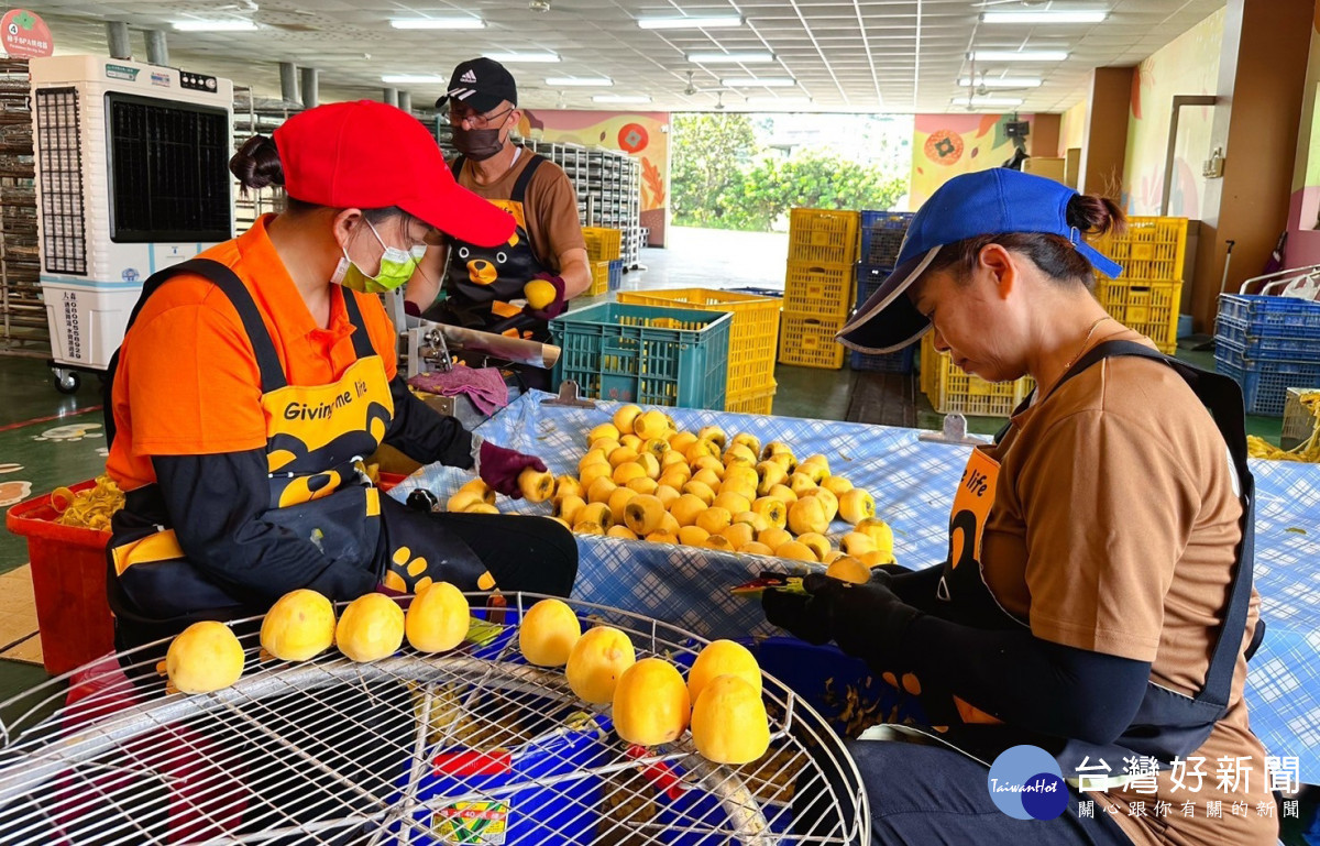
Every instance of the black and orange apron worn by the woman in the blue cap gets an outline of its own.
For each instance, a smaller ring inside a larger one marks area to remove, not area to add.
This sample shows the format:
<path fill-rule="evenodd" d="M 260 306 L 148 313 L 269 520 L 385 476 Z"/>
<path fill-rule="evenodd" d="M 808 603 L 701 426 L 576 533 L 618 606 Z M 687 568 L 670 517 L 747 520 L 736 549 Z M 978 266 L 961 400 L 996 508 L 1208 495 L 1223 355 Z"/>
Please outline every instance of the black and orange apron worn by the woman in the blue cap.
<path fill-rule="evenodd" d="M 894 678 L 892 674 L 886 674 L 887 681 L 900 686 L 904 696 L 913 696 L 917 700 L 925 725 L 935 727 L 935 736 L 987 764 L 1001 751 L 1020 743 L 1031 743 L 1053 754 L 1064 777 L 1069 780 L 1077 779 L 1078 767 L 1088 758 L 1092 762 L 1118 762 L 1133 755 L 1148 755 L 1168 764 L 1175 756 L 1185 758 L 1200 748 L 1214 723 L 1228 711 L 1233 672 L 1251 602 L 1254 561 L 1255 487 L 1246 463 L 1242 392 L 1237 383 L 1218 374 L 1189 367 L 1139 343 L 1111 341 L 1096 346 L 1084 355 L 1055 384 L 1051 393 L 1092 364 L 1105 358 L 1123 355 L 1163 362 L 1188 383 L 1197 399 L 1209 409 L 1216 426 L 1228 442 L 1239 483 L 1242 540 L 1236 549 L 1228 607 L 1210 655 L 1205 685 L 1195 697 L 1188 697 L 1148 682 L 1140 707 L 1123 734 L 1111 744 L 1092 744 L 1010 727 L 949 690 L 932 689 L 912 676 Z M 1026 409 L 1031 401 L 1032 397 L 1028 396 L 1014 414 Z M 1007 434 L 1010 426 L 1011 422 L 999 432 L 995 437 L 997 443 Z M 949 515 L 949 552 L 936 593 L 937 599 L 944 603 L 940 616 L 977 628 L 1030 630 L 1028 620 L 1010 614 L 995 601 L 982 574 L 981 538 L 994 504 L 998 476 L 999 463 L 985 451 L 973 449 Z M 1247 651 L 1249 659 L 1263 634 L 1265 622 L 1259 620 Z"/>

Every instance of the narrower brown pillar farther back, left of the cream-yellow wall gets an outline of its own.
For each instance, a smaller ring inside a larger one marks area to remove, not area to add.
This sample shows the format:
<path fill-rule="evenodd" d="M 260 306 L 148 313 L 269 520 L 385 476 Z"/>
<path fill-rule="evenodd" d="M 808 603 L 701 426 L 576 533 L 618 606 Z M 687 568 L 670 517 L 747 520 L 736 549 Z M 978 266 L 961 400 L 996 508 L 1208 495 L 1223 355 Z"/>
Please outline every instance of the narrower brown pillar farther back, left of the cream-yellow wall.
<path fill-rule="evenodd" d="M 1081 146 L 1077 187 L 1082 194 L 1098 194 L 1119 201 L 1123 187 L 1123 160 L 1127 158 L 1127 115 L 1133 104 L 1135 73 L 1135 67 L 1097 67 L 1090 71 L 1085 141 Z"/>

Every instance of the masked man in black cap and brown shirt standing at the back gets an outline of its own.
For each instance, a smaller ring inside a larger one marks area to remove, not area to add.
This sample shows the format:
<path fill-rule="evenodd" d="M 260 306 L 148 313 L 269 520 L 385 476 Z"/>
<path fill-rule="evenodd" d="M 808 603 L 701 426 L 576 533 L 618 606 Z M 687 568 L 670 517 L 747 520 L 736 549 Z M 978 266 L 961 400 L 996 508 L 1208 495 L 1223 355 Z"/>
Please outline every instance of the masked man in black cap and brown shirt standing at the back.
<path fill-rule="evenodd" d="M 445 236 L 408 282 L 405 308 L 438 322 L 483 331 L 513 326 L 523 337 L 548 339 L 548 321 L 591 285 L 573 183 L 558 165 L 510 140 L 521 112 L 513 77 L 499 62 L 458 65 L 436 108 L 447 110 L 454 128 L 454 178 L 507 210 L 517 228 L 494 248 Z M 549 302 L 545 285 L 529 297 L 533 280 L 553 288 Z M 531 302 L 511 305 L 523 300 Z"/>

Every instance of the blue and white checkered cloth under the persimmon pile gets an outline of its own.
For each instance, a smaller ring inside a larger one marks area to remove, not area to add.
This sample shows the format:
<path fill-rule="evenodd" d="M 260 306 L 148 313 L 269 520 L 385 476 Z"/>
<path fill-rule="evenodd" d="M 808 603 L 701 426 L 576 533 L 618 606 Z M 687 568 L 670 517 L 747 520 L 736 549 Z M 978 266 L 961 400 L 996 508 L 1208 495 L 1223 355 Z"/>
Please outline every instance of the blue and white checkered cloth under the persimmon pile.
<path fill-rule="evenodd" d="M 539 455 L 556 475 L 576 474 L 586 432 L 618 408 L 546 407 L 552 395 L 532 392 L 484 422 L 487 439 Z M 730 436 L 748 432 L 785 441 L 799 457 L 824 454 L 832 472 L 875 496 L 876 515 L 894 527 L 899 564 L 923 568 L 948 549 L 952 491 L 968 446 L 917 439 L 915 429 L 825 420 L 759 417 L 698 409 L 668 409 L 680 428 L 718 425 Z M 1255 582 L 1269 632 L 1251 661 L 1247 703 L 1251 729 L 1271 755 L 1298 756 L 1302 780 L 1320 784 L 1320 467 L 1257 461 Z M 471 476 L 433 465 L 401 483 L 392 496 L 426 487 L 444 502 Z M 549 503 L 502 502 L 506 512 L 549 515 Z M 837 540 L 847 525 L 836 521 Z M 705 637 L 781 634 L 766 623 L 760 603 L 729 589 L 785 562 L 708 549 L 579 537 L 574 595 L 645 614 Z"/>

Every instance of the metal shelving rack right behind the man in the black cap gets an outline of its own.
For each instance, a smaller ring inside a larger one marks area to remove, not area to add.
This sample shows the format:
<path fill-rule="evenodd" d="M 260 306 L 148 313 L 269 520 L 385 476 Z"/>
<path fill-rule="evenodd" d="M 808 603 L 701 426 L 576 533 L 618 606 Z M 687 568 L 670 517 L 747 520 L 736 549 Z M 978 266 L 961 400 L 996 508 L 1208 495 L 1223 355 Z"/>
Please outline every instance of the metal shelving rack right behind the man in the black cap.
<path fill-rule="evenodd" d="M 527 149 L 564 168 L 578 198 L 582 226 L 623 231 L 626 271 L 638 269 L 642 259 L 642 162 L 627 153 L 601 148 L 519 139 Z"/>

